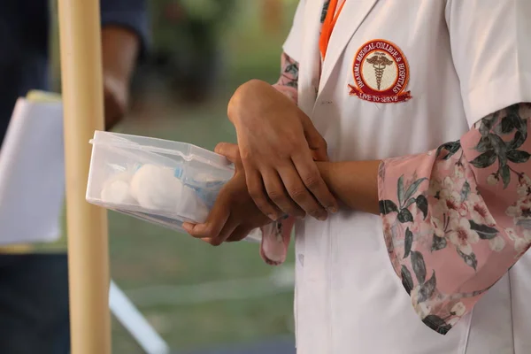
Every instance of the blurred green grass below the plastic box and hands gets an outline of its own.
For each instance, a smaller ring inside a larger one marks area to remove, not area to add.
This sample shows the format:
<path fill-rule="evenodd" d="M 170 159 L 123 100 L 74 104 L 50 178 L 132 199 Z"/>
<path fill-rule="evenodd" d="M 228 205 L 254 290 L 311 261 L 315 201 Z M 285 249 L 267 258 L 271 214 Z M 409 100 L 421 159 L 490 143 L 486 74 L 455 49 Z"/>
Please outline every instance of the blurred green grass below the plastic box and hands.
<path fill-rule="evenodd" d="M 126 293 L 146 286 L 260 277 L 272 271 L 259 258 L 254 243 L 213 248 L 114 212 L 110 213 L 110 234 L 112 278 Z M 173 349 L 182 350 L 289 334 L 292 304 L 289 293 L 205 304 L 141 306 L 140 310 Z M 114 352 L 136 353 L 133 344 L 115 323 Z"/>

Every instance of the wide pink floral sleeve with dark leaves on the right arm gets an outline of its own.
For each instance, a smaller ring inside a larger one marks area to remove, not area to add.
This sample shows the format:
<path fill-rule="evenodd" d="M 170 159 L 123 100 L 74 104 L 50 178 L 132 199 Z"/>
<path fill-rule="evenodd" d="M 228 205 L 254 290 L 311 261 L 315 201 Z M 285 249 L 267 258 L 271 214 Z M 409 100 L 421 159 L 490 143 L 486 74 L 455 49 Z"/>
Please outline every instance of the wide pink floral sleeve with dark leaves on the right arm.
<path fill-rule="evenodd" d="M 422 321 L 446 334 L 531 245 L 531 104 L 458 142 L 381 163 L 389 257 Z"/>

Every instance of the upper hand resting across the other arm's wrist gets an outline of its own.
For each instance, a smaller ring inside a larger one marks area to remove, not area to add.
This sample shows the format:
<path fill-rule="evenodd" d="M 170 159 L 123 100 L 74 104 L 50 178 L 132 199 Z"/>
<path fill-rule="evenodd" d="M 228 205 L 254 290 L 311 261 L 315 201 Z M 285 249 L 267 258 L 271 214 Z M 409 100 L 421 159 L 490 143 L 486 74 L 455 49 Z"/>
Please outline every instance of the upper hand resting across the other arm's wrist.
<path fill-rule="evenodd" d="M 335 197 L 315 161 L 327 161 L 327 142 L 286 96 L 263 81 L 249 81 L 228 104 L 238 136 L 250 196 L 270 219 L 306 213 L 325 220 Z"/>

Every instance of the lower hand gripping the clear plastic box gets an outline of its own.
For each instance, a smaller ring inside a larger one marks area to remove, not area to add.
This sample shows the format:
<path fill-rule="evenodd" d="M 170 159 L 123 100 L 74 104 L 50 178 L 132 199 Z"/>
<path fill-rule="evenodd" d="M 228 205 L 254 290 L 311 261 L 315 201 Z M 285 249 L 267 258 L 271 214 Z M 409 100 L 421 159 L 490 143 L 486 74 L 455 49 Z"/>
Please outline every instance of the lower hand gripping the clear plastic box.
<path fill-rule="evenodd" d="M 185 223 L 183 227 L 189 235 L 219 246 L 223 242 L 241 241 L 254 228 L 266 226 L 272 221 L 258 210 L 249 196 L 238 146 L 222 142 L 215 151 L 235 164 L 235 175 L 219 191 L 204 224 Z"/>

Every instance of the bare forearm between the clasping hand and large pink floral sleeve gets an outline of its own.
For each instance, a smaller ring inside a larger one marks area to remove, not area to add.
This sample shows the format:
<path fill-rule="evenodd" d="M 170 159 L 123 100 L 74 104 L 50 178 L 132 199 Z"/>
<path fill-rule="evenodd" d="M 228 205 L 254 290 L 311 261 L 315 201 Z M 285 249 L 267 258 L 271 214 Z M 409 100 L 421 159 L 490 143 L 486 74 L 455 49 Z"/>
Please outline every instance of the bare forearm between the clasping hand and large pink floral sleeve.
<path fill-rule="evenodd" d="M 347 207 L 380 214 L 378 207 L 378 169 L 380 160 L 318 162 L 328 189 Z"/>

